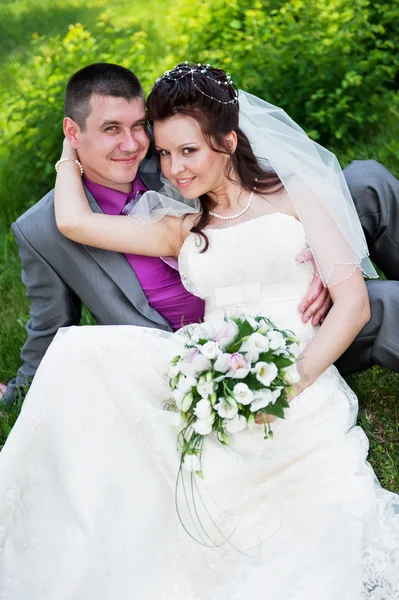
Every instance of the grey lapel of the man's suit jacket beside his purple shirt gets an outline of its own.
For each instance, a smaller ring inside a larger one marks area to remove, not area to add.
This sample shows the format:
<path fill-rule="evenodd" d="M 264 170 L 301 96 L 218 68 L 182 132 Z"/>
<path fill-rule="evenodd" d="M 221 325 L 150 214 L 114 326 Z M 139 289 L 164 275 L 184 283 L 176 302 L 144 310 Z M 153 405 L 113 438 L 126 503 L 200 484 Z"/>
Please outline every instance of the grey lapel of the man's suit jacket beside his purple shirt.
<path fill-rule="evenodd" d="M 85 192 L 92 211 L 102 213 L 101 207 L 86 187 Z M 150 321 L 154 321 L 158 325 L 164 327 L 166 325 L 168 329 L 170 329 L 166 319 L 149 305 L 147 297 L 137 279 L 136 273 L 123 254 L 102 250 L 101 248 L 93 248 L 91 246 L 84 245 L 83 247 L 107 275 L 111 277 L 128 300 L 142 313 L 142 315 Z"/>

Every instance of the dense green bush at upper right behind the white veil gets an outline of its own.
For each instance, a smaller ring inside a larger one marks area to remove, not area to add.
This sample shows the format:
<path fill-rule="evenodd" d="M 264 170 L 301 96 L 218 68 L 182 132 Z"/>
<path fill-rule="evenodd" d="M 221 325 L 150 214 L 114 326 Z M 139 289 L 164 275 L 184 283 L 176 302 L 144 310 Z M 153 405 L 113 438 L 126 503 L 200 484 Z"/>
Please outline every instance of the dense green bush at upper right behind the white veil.
<path fill-rule="evenodd" d="M 399 105 L 393 3 L 179 0 L 169 24 L 172 56 L 227 69 L 324 144 L 357 141 Z"/>

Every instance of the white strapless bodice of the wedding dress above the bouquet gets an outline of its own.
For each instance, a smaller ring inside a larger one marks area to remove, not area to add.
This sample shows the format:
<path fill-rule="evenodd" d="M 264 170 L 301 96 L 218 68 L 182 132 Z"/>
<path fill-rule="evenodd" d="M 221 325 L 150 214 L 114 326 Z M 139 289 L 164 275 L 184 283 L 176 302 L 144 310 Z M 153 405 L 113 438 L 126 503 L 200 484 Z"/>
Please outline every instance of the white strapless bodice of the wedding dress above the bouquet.
<path fill-rule="evenodd" d="M 199 236 L 191 234 L 179 256 L 185 287 L 206 301 L 205 318 L 238 306 L 245 313 L 262 312 L 302 339 L 314 334 L 298 313 L 313 275 L 309 265 L 296 260 L 306 245 L 297 219 L 271 213 L 205 233 L 205 252 Z"/>

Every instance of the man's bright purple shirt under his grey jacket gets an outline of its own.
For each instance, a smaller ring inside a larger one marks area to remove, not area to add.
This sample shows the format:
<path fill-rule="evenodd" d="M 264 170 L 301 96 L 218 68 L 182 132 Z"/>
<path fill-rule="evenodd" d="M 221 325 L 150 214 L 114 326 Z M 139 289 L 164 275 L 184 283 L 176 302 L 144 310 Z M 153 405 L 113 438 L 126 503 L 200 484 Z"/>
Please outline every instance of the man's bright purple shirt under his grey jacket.
<path fill-rule="evenodd" d="M 112 190 L 84 178 L 90 193 L 107 215 L 119 215 L 125 204 L 135 197 L 137 192 L 148 188 L 137 176 L 133 181 L 130 194 Z M 149 304 L 167 321 L 173 330 L 182 325 L 197 323 L 204 316 L 204 301 L 190 294 L 183 286 L 179 272 L 173 268 L 174 262 L 166 263 L 154 256 L 125 254 L 127 261 L 137 275 Z M 166 259 L 169 261 L 169 259 Z"/>

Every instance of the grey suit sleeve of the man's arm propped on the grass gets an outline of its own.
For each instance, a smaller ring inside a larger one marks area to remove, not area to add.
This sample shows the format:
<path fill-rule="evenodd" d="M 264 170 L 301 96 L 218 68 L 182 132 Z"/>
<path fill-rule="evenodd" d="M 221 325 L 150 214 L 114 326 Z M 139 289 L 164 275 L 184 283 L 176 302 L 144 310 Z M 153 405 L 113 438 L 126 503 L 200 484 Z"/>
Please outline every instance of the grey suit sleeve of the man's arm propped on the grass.
<path fill-rule="evenodd" d="M 27 240 L 18 223 L 12 225 L 22 263 L 22 281 L 31 302 L 22 366 L 9 382 L 6 402 L 24 394 L 47 348 L 60 327 L 78 325 L 82 306 L 76 294 Z"/>

